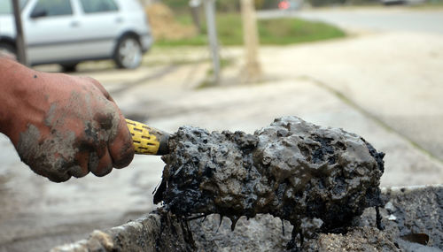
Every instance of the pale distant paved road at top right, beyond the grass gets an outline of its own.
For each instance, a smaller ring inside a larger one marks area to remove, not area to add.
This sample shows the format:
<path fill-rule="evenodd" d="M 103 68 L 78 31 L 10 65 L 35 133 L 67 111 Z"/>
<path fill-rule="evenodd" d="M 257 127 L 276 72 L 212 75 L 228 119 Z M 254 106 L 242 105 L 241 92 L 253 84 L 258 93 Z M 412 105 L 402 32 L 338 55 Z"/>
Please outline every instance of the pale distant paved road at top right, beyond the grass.
<path fill-rule="evenodd" d="M 406 8 L 338 9 L 323 11 L 260 11 L 260 19 L 298 17 L 329 22 L 345 29 L 443 34 L 443 10 L 416 11 Z"/>

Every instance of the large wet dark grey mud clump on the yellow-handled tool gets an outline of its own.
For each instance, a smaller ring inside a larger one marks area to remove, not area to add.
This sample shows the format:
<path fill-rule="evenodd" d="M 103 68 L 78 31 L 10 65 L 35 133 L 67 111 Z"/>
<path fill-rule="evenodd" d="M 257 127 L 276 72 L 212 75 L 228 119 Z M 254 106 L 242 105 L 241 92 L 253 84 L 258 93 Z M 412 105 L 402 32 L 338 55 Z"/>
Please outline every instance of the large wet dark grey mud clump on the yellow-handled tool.
<path fill-rule="evenodd" d="M 341 232 L 382 204 L 384 154 L 356 134 L 300 118 L 277 118 L 254 134 L 183 126 L 169 149 L 154 202 L 177 216 L 218 213 L 234 229 L 242 216 L 268 213 L 302 238 L 309 229 Z"/>

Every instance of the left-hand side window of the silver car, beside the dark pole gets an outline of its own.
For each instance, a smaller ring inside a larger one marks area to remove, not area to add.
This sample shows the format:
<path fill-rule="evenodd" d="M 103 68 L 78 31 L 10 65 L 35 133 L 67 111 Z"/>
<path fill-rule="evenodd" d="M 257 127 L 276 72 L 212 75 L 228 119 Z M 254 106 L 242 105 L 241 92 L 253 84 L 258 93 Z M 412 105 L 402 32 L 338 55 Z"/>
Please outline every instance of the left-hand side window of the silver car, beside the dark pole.
<path fill-rule="evenodd" d="M 35 4 L 31 17 L 50 17 L 72 15 L 71 0 L 39 0 Z"/>

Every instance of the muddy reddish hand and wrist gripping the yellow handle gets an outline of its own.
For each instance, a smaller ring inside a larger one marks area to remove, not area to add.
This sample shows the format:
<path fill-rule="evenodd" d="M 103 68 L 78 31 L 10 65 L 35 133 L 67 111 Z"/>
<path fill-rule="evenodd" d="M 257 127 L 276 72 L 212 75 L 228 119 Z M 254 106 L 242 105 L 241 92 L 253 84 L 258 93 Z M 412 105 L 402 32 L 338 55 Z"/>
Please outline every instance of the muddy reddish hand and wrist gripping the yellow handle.
<path fill-rule="evenodd" d="M 0 131 L 34 172 L 62 182 L 105 176 L 132 161 L 125 120 L 97 80 L 40 73 L 4 58 L 0 77 Z"/>

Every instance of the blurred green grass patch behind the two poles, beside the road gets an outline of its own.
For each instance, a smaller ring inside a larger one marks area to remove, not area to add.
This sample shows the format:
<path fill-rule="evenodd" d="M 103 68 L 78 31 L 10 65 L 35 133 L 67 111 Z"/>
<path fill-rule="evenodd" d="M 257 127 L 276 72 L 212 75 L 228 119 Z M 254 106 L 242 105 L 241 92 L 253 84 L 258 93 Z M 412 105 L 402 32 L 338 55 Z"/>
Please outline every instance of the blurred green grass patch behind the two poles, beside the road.
<path fill-rule="evenodd" d="M 183 25 L 191 25 L 189 16 L 179 16 L 177 20 Z M 217 14 L 217 32 L 222 45 L 243 44 L 242 22 L 239 14 Z M 285 45 L 299 42 L 315 42 L 320 40 L 346 36 L 338 27 L 323 22 L 303 19 L 266 19 L 258 21 L 260 44 Z M 206 27 L 204 27 L 206 30 Z M 199 46 L 206 45 L 206 34 L 181 40 L 160 40 L 159 46 Z"/>

